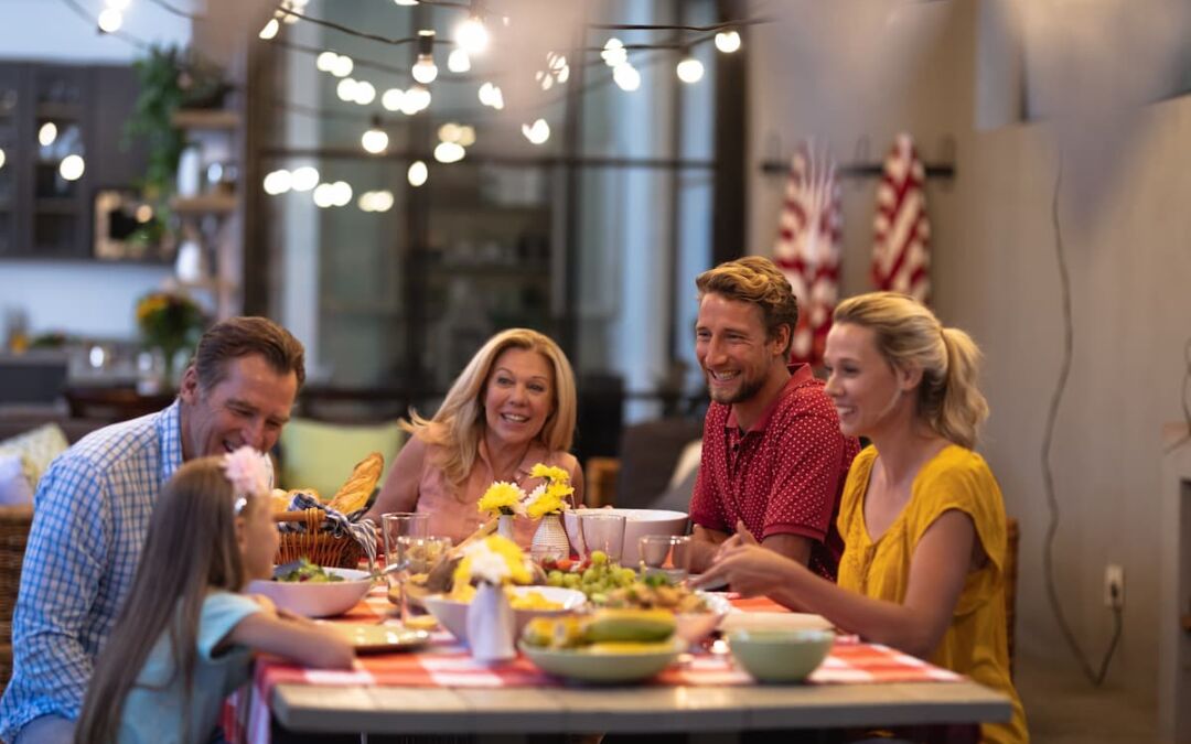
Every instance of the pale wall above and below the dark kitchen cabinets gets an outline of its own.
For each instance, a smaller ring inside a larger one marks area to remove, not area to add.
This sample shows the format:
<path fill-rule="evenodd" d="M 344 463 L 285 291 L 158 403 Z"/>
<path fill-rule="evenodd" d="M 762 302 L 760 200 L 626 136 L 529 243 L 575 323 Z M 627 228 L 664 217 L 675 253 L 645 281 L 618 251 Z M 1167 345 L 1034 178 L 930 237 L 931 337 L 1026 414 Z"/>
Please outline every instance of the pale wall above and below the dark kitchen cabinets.
<path fill-rule="evenodd" d="M 94 15 L 104 7 L 101 0 L 80 4 Z M 187 7 L 185 0 L 179 5 Z M 7 0 L 2 15 L 0 58 L 119 64 L 139 55 L 133 46 L 96 33 L 94 25 L 57 0 Z M 186 44 L 191 38 L 188 19 L 150 2 L 130 7 L 124 30 L 158 43 Z M 168 275 L 161 267 L 0 261 L 0 313 L 24 308 L 33 333 L 132 338 L 133 302 Z"/>

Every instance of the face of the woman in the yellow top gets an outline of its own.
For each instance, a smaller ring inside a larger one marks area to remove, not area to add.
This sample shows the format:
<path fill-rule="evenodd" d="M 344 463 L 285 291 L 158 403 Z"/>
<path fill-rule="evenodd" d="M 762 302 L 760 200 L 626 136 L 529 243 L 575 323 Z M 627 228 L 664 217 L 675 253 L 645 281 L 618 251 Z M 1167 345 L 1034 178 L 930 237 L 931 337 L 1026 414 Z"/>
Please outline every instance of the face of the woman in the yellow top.
<path fill-rule="evenodd" d="M 840 431 L 872 437 L 912 406 L 916 376 L 896 369 L 877 349 L 872 329 L 837 323 L 827 336 L 824 392 L 840 415 Z"/>

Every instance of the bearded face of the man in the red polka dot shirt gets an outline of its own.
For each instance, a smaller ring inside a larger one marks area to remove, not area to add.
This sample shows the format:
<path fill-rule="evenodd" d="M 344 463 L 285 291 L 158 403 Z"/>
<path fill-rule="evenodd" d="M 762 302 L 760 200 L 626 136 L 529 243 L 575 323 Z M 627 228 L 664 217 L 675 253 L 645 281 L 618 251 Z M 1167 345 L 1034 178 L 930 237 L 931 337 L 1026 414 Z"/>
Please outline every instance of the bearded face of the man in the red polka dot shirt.
<path fill-rule="evenodd" d="M 705 294 L 694 333 L 694 355 L 717 404 L 747 402 L 786 369 L 788 327 L 769 338 L 761 308 L 752 302 Z"/>

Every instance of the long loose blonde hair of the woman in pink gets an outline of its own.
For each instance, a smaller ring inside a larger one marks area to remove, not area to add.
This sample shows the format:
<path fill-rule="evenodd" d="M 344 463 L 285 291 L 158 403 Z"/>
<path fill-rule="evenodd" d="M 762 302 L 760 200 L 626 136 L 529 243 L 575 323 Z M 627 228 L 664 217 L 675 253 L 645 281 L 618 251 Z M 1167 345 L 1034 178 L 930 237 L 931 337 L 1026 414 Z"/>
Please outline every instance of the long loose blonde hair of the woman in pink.
<path fill-rule="evenodd" d="M 550 364 L 554 381 L 550 386 L 551 409 L 537 439 L 551 452 L 568 451 L 575 433 L 575 375 L 567 355 L 548 336 L 529 329 L 509 329 L 490 338 L 447 392 L 438 412 L 424 419 L 410 411 L 410 420 L 401 426 L 420 437 L 426 444 L 442 448 L 436 464 L 447 481 L 461 486 L 472 473 L 479 452 L 480 437 L 487 425 L 484 417 L 484 393 L 492 367 L 507 349 L 524 349 L 541 354 Z"/>

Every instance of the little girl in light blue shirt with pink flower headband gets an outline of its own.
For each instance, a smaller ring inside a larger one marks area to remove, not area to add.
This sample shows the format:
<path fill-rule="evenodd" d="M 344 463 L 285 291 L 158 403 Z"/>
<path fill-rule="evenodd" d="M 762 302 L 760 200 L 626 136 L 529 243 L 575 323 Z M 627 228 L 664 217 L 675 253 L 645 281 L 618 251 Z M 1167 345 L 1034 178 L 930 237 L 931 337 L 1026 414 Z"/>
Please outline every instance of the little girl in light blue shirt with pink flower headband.
<path fill-rule="evenodd" d="M 182 465 L 154 507 L 132 589 L 100 654 L 76 744 L 210 742 L 252 651 L 349 668 L 347 639 L 241 594 L 278 550 L 264 467 L 251 448 Z"/>

